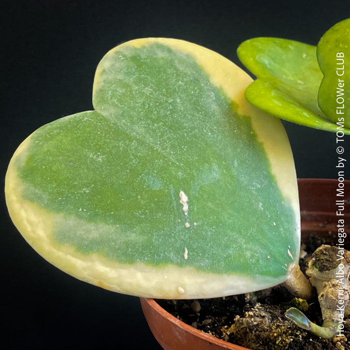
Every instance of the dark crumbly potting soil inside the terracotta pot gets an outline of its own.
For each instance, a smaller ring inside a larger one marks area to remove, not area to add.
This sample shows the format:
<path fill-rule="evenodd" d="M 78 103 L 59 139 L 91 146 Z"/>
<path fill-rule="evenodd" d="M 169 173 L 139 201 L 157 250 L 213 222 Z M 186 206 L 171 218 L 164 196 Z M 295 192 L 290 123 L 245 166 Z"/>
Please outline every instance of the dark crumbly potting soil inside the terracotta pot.
<path fill-rule="evenodd" d="M 301 270 L 318 246 L 332 243 L 332 236 L 325 241 L 310 235 L 303 243 L 307 255 L 300 258 Z M 350 350 L 350 317 L 346 319 L 344 336 L 321 339 L 312 335 L 288 320 L 284 312 L 293 306 L 311 321 L 322 324 L 317 296 L 307 301 L 295 298 L 281 286 L 250 295 L 156 301 L 192 327 L 253 350 Z"/>

